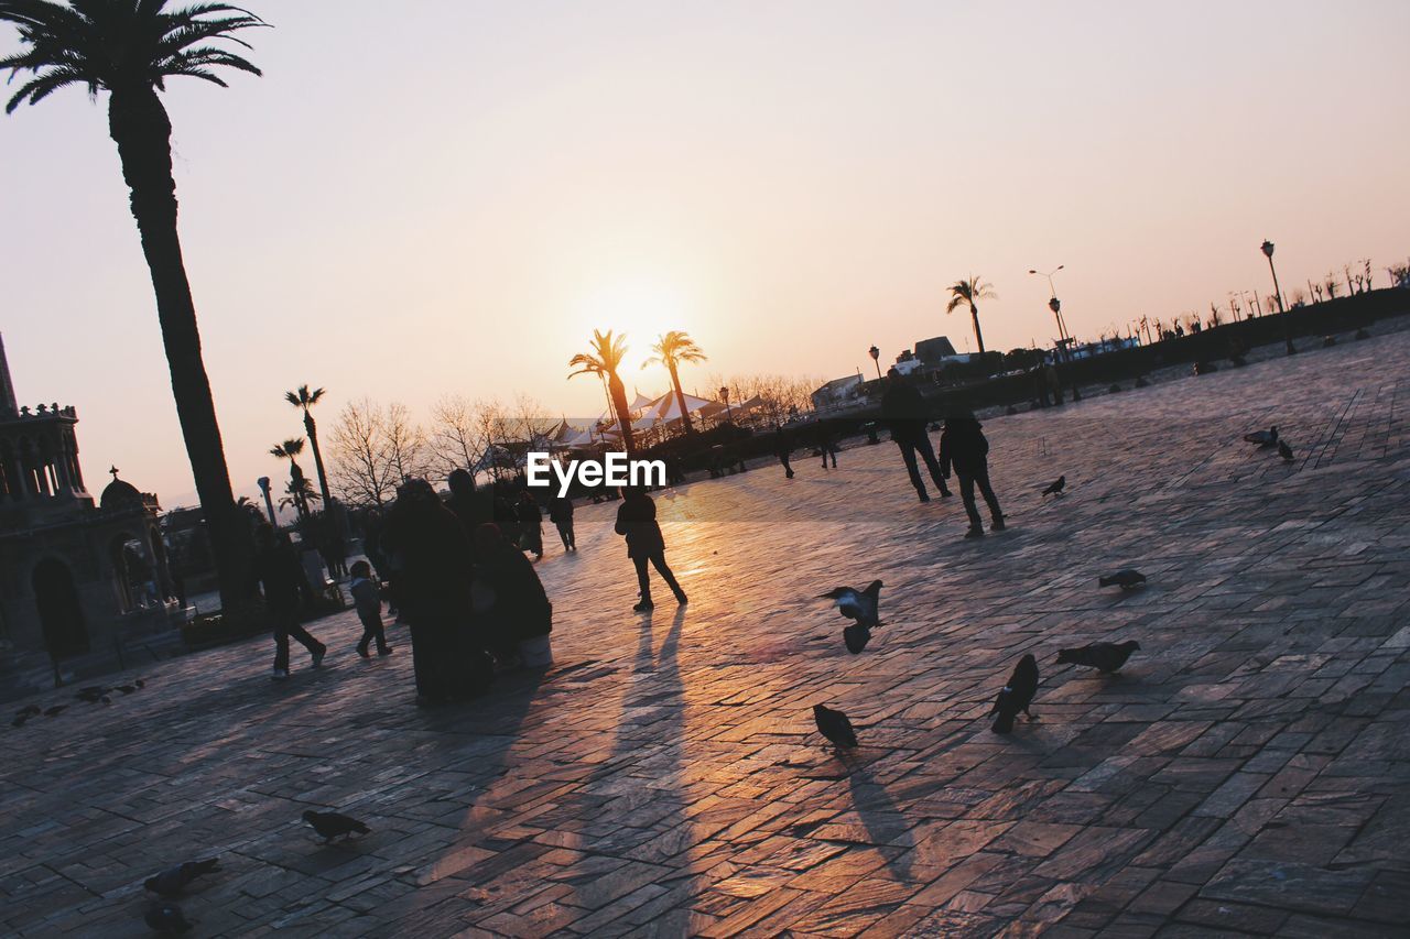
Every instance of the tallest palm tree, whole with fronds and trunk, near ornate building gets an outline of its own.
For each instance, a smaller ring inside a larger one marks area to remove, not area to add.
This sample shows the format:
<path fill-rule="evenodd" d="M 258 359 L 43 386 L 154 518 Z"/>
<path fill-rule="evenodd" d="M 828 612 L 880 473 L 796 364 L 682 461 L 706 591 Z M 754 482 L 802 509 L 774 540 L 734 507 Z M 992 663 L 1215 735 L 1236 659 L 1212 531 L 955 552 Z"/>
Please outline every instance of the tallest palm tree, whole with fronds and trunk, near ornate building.
<path fill-rule="evenodd" d="M 0 23 L 20 32 L 20 51 L 0 58 L 11 78 L 27 80 L 6 104 L 37 104 L 69 85 L 89 96 L 109 92 L 109 135 L 117 144 L 123 179 L 131 189 L 133 217 L 142 241 L 157 293 L 157 316 L 172 375 L 192 477 L 220 578 L 223 606 L 235 609 L 250 592 L 254 551 L 248 527 L 230 491 L 230 472 L 216 422 L 210 381 L 200 357 L 196 306 L 176 234 L 176 183 L 172 179 L 171 120 L 158 92 L 165 80 L 185 75 L 224 86 L 216 73 L 233 68 L 259 69 L 221 48 L 250 48 L 238 30 L 265 25 L 259 17 L 224 3 L 165 10 L 168 0 L 0 0 Z M 214 44 L 214 45 L 213 45 Z"/>

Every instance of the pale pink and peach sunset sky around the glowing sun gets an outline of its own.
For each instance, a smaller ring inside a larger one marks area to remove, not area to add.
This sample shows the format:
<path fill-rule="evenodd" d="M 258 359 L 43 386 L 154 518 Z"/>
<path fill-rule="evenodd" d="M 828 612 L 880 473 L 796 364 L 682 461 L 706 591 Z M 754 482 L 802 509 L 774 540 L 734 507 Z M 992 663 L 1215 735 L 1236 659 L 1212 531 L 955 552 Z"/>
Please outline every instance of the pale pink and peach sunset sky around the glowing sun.
<path fill-rule="evenodd" d="M 264 78 L 173 79 L 180 234 L 231 481 L 279 477 L 282 393 L 596 416 L 567 361 L 688 331 L 709 376 L 870 371 L 1285 293 L 1410 257 L 1410 4 L 247 0 Z M 16 47 L 0 27 L 0 51 Z M 0 117 L 0 334 L 21 403 L 195 499 L 106 96 Z M 310 461 L 305 461 L 310 462 Z M 306 467 L 309 468 L 309 467 Z"/>

